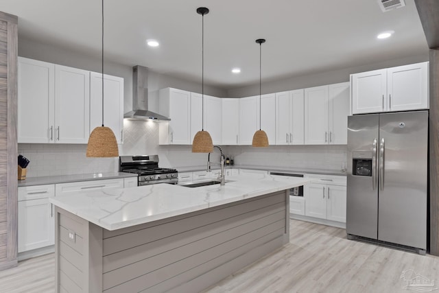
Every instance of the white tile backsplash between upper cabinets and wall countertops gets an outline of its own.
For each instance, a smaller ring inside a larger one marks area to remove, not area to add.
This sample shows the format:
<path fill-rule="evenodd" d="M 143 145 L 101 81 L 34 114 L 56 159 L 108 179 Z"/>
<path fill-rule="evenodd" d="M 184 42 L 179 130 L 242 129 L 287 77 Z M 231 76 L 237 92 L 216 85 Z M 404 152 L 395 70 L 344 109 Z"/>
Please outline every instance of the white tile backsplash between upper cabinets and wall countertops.
<path fill-rule="evenodd" d="M 191 145 L 158 145 L 158 123 L 163 122 L 125 119 L 119 154 L 158 154 L 161 167 L 206 165 L 207 154 L 191 152 Z M 87 158 L 86 148 L 85 144 L 19 143 L 19 154 L 30 160 L 28 177 L 117 172 L 119 158 Z M 222 149 L 233 157 L 237 166 L 340 170 L 346 164 L 346 145 L 224 146 Z M 217 156 L 212 159 L 217 161 Z"/>

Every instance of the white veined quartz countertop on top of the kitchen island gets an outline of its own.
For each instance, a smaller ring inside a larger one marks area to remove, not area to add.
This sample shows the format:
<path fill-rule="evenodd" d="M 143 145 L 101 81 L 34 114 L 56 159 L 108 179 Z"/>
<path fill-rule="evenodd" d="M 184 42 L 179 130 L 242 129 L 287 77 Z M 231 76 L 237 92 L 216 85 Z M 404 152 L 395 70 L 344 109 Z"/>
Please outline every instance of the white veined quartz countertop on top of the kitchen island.
<path fill-rule="evenodd" d="M 228 176 L 226 180 L 224 186 L 156 184 L 105 189 L 56 196 L 49 202 L 102 228 L 117 230 L 297 187 L 313 179 L 246 174 Z"/>

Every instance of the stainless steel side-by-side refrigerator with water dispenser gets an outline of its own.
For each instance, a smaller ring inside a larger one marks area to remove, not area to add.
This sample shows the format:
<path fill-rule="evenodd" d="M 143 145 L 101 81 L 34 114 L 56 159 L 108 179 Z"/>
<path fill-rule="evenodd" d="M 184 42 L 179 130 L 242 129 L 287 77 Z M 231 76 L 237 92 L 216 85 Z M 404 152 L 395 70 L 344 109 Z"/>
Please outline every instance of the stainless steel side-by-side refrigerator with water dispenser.
<path fill-rule="evenodd" d="M 348 117 L 346 233 L 427 250 L 428 111 Z"/>

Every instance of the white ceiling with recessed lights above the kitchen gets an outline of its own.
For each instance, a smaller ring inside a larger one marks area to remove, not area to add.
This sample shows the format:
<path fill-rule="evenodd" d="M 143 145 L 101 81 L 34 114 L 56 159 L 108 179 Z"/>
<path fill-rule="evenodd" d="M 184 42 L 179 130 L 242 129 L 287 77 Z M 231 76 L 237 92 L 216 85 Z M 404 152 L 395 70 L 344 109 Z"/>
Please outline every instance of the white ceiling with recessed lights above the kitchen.
<path fill-rule="evenodd" d="M 143 65 L 187 80 L 201 79 L 201 23 L 205 6 L 204 80 L 224 89 L 263 81 L 425 54 L 414 0 L 381 12 L 377 0 L 105 0 L 106 60 Z M 19 16 L 19 35 L 99 56 L 100 0 L 0 0 Z M 377 34 L 394 30 L 378 40 Z M 145 45 L 154 38 L 156 48 Z M 231 73 L 240 67 L 241 73 Z"/>

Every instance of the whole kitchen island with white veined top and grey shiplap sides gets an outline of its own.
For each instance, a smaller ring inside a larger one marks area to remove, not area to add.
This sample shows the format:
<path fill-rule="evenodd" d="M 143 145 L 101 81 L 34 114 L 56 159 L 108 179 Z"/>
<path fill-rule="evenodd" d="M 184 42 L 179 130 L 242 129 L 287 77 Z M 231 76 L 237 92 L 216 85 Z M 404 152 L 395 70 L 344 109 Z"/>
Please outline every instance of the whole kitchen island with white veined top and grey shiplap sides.
<path fill-rule="evenodd" d="M 267 174 L 51 198 L 57 292 L 198 292 L 289 242 L 287 189 Z"/>

